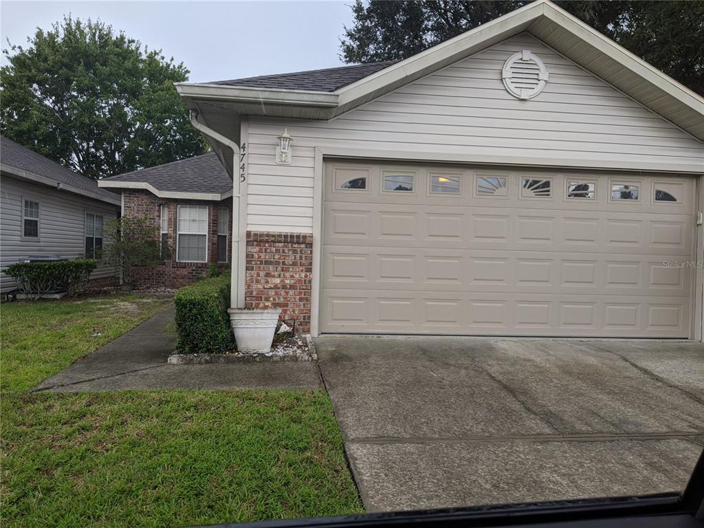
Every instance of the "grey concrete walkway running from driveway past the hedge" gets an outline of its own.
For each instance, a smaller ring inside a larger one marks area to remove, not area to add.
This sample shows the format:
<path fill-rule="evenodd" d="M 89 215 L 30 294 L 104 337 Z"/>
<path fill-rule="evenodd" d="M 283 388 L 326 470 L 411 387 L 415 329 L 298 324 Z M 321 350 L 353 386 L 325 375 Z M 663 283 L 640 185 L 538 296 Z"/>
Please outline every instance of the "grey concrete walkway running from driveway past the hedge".
<path fill-rule="evenodd" d="M 176 335 L 168 308 L 67 369 L 35 391 L 80 392 L 144 389 L 318 389 L 315 363 L 167 365 Z"/>

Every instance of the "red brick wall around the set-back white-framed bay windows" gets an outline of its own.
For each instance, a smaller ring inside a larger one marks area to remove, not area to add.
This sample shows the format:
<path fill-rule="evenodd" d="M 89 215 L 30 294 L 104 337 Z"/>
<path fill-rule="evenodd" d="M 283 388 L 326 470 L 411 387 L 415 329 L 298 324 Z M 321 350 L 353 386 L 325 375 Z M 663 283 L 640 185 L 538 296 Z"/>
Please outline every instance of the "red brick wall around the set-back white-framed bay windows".
<path fill-rule="evenodd" d="M 168 205 L 168 243 L 172 249 L 172 258 L 164 261 L 163 264 L 150 268 L 138 268 L 134 273 L 134 283 L 137 287 L 163 287 L 180 288 L 191 284 L 197 277 L 206 275 L 210 263 L 218 260 L 218 208 L 227 207 L 230 209 L 230 221 L 228 222 L 227 239 L 227 263 L 218 263 L 220 270 L 230 269 L 232 258 L 232 209 L 230 199 L 220 202 L 197 201 L 197 200 L 177 200 L 163 199 L 154 196 L 149 191 L 124 191 L 122 193 L 125 203 L 125 216 L 144 216 L 149 218 L 151 223 L 161 226 L 161 206 Z M 207 263 L 185 263 L 176 261 L 176 217 L 177 206 L 193 205 L 208 206 L 208 262 Z"/>

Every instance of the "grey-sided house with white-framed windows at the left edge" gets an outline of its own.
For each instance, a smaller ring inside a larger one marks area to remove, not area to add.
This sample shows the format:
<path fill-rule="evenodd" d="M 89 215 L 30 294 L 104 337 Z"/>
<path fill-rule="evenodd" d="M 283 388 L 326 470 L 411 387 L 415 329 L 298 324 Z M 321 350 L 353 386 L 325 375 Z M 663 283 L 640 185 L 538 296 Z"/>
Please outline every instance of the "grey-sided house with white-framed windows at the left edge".
<path fill-rule="evenodd" d="M 101 258 L 102 226 L 120 215 L 120 196 L 95 180 L 0 137 L 0 268 L 27 257 Z M 117 284 L 115 268 L 99 263 L 94 286 Z M 0 273 L 0 292 L 15 281 Z"/>

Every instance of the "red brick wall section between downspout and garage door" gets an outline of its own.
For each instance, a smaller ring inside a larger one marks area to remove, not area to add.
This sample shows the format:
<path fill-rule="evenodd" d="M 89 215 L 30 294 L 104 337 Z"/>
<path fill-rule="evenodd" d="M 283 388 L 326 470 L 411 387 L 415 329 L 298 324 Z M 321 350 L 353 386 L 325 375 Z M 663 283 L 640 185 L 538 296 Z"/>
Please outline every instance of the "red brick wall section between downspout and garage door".
<path fill-rule="evenodd" d="M 246 308 L 281 308 L 297 332 L 310 332 L 313 235 L 247 232 Z"/>

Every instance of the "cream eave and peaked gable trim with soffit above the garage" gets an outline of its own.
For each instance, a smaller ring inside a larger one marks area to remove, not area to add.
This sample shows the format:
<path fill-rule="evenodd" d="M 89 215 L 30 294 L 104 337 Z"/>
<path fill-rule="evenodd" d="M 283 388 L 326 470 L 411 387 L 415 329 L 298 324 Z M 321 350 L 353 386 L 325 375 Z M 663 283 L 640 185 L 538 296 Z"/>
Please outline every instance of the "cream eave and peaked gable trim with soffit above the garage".
<path fill-rule="evenodd" d="M 177 88 L 187 105 L 199 110 L 206 121 L 208 110 L 217 113 L 223 108 L 250 115 L 329 119 L 526 31 L 697 139 L 704 140 L 702 97 L 550 0 L 536 0 L 334 92 L 319 89 L 306 96 L 306 90 L 301 89 L 189 83 L 177 84 Z M 199 102 L 214 100 L 218 101 L 218 108 L 199 108 Z"/>

